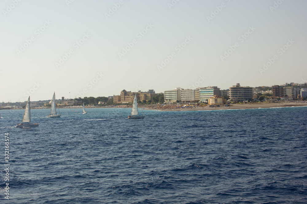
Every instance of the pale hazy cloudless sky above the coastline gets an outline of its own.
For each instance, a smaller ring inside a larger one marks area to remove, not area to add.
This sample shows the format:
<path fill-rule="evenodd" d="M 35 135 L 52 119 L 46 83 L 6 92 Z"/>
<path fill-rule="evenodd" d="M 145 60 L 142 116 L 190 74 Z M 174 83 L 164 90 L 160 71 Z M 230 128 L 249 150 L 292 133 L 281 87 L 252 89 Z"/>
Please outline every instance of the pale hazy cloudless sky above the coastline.
<path fill-rule="evenodd" d="M 0 101 L 305 83 L 305 0 L 1 0 Z"/>

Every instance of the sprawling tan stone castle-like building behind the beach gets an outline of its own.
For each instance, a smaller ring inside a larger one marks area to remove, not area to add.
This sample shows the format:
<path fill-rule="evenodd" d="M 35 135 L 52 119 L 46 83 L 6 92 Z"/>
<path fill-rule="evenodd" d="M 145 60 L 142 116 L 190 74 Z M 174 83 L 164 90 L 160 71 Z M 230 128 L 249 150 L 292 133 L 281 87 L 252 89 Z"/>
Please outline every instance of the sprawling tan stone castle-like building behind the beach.
<path fill-rule="evenodd" d="M 114 103 L 133 103 L 135 94 L 136 94 L 137 100 L 141 100 L 141 101 L 150 100 L 153 96 L 158 95 L 153 90 L 149 90 L 146 92 L 142 92 L 142 91 L 131 92 L 131 91 L 122 90 L 120 92 L 120 95 L 113 96 L 113 102 Z"/>

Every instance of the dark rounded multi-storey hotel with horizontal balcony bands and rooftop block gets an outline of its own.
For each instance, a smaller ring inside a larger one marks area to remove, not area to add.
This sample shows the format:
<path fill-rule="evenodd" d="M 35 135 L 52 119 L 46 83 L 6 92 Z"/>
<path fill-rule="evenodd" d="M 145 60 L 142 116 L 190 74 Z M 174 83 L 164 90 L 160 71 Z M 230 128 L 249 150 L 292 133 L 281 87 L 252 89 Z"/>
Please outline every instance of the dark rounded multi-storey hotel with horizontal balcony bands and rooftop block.
<path fill-rule="evenodd" d="M 229 87 L 229 99 L 233 101 L 245 101 L 253 98 L 253 87 L 241 87 L 237 85 Z"/>

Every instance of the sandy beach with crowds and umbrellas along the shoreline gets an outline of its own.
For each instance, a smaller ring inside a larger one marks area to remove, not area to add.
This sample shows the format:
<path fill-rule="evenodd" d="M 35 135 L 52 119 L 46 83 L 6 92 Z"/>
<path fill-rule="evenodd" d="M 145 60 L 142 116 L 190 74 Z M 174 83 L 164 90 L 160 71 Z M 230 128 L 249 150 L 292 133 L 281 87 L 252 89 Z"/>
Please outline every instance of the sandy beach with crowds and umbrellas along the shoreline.
<path fill-rule="evenodd" d="M 255 109 L 255 108 L 280 108 L 280 107 L 292 107 L 292 106 L 307 106 L 307 102 L 279 102 L 279 103 L 245 103 L 245 104 L 231 104 L 221 107 L 194 107 L 194 108 L 179 108 L 179 107 L 166 107 L 149 108 L 157 109 L 159 111 L 182 111 L 182 110 L 223 110 L 223 109 Z"/>

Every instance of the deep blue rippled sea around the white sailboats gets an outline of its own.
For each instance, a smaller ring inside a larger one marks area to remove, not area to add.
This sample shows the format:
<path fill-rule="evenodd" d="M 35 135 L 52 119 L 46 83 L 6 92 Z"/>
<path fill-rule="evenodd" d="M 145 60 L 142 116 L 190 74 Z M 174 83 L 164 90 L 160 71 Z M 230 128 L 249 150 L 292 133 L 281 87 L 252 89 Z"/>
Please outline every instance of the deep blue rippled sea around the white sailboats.
<path fill-rule="evenodd" d="M 0 203 L 307 203 L 307 107 L 143 111 L 0 110 Z"/>

